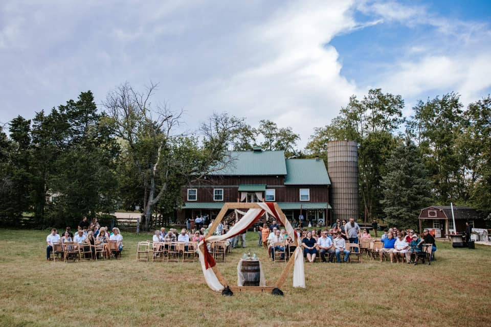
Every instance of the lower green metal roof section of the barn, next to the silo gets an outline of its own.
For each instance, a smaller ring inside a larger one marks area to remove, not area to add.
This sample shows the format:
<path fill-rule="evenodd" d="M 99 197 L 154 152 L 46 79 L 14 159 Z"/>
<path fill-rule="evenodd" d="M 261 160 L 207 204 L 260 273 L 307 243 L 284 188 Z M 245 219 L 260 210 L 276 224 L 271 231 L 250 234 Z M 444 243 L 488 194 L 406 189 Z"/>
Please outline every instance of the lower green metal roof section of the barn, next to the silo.
<path fill-rule="evenodd" d="M 286 159 L 285 185 L 330 185 L 324 160 Z"/>

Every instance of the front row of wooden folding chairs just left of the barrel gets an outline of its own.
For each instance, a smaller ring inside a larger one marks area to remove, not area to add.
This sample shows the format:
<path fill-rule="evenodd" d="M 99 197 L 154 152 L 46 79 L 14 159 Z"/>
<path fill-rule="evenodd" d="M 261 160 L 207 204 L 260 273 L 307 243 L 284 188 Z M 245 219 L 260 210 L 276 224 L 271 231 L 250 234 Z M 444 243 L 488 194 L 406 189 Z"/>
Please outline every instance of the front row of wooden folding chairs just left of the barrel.
<path fill-rule="evenodd" d="M 148 262 L 194 262 L 197 259 L 198 242 L 151 242 L 138 243 L 137 261 Z M 209 252 L 215 260 L 225 262 L 225 256 L 231 251 L 225 241 L 211 242 Z"/>

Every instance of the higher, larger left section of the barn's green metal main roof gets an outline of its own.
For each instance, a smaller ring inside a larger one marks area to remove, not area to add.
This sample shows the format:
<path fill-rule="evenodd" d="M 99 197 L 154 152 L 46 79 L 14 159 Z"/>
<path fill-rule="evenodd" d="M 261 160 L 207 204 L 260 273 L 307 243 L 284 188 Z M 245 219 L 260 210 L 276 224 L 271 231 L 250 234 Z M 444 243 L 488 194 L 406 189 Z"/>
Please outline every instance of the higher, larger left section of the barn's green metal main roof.
<path fill-rule="evenodd" d="M 286 175 L 284 151 L 231 151 L 232 162 L 212 175 Z"/>

